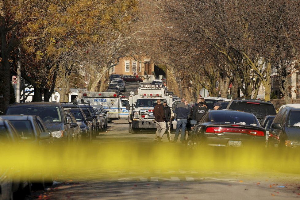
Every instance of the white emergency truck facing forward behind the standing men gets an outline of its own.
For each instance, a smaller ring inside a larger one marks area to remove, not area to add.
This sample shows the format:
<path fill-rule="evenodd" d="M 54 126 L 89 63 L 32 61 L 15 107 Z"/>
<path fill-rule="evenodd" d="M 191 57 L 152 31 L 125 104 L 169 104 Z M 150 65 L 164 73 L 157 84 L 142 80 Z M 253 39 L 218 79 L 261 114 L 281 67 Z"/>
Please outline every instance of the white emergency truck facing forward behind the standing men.
<path fill-rule="evenodd" d="M 129 110 L 129 133 L 156 130 L 156 123 L 154 122 L 155 117 L 153 115 L 154 106 L 157 104 L 156 100 L 160 99 L 161 102 L 163 102 L 163 99 L 167 99 L 167 104 L 169 106 L 172 102 L 172 94 L 165 92 L 166 91 L 161 84 L 140 84 L 137 92 L 130 92 L 129 105 L 126 106 L 126 109 Z"/>

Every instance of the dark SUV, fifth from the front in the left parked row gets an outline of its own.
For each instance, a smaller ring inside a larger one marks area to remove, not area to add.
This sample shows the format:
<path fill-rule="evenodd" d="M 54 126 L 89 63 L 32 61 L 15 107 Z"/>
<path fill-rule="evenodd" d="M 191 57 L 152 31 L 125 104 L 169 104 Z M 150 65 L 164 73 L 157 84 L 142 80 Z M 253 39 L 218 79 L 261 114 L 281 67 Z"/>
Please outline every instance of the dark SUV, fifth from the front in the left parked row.
<path fill-rule="evenodd" d="M 86 117 L 81 108 L 70 108 L 70 113 L 75 117 L 80 129 L 81 129 L 81 141 L 91 142 L 92 141 L 92 117 Z"/>

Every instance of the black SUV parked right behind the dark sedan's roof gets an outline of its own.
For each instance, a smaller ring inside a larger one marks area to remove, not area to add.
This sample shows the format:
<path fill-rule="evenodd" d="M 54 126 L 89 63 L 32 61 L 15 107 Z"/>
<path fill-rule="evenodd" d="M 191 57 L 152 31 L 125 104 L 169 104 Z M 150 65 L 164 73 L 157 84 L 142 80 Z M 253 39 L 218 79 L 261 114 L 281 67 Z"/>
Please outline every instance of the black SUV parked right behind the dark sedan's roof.
<path fill-rule="evenodd" d="M 260 124 L 267 115 L 275 115 L 276 109 L 269 101 L 253 100 L 253 99 L 234 99 L 227 106 L 228 110 L 239 110 L 253 113 Z"/>

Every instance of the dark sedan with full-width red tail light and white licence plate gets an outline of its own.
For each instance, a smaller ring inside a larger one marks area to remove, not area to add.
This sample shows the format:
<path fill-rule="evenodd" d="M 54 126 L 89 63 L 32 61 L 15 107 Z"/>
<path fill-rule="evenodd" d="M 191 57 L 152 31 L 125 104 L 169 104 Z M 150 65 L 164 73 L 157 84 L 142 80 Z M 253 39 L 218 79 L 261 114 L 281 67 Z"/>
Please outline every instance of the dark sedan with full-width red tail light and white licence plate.
<path fill-rule="evenodd" d="M 197 121 L 192 120 L 192 124 Z M 266 130 L 260 126 L 256 116 L 235 110 L 208 110 L 198 125 L 192 129 L 187 144 L 200 148 L 255 147 L 264 148 Z"/>

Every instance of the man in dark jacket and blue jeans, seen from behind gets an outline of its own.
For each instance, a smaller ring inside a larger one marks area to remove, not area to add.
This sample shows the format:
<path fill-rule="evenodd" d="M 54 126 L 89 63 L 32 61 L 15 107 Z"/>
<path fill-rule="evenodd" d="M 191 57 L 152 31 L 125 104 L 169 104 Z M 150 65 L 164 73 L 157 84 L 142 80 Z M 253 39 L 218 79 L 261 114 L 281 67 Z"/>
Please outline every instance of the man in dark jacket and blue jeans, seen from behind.
<path fill-rule="evenodd" d="M 185 144 L 185 131 L 187 127 L 187 120 L 190 118 L 190 109 L 185 105 L 184 98 L 181 99 L 181 103 L 177 105 L 174 114 L 176 120 L 176 133 L 173 142 L 176 143 L 181 129 L 180 142 L 181 144 Z"/>

